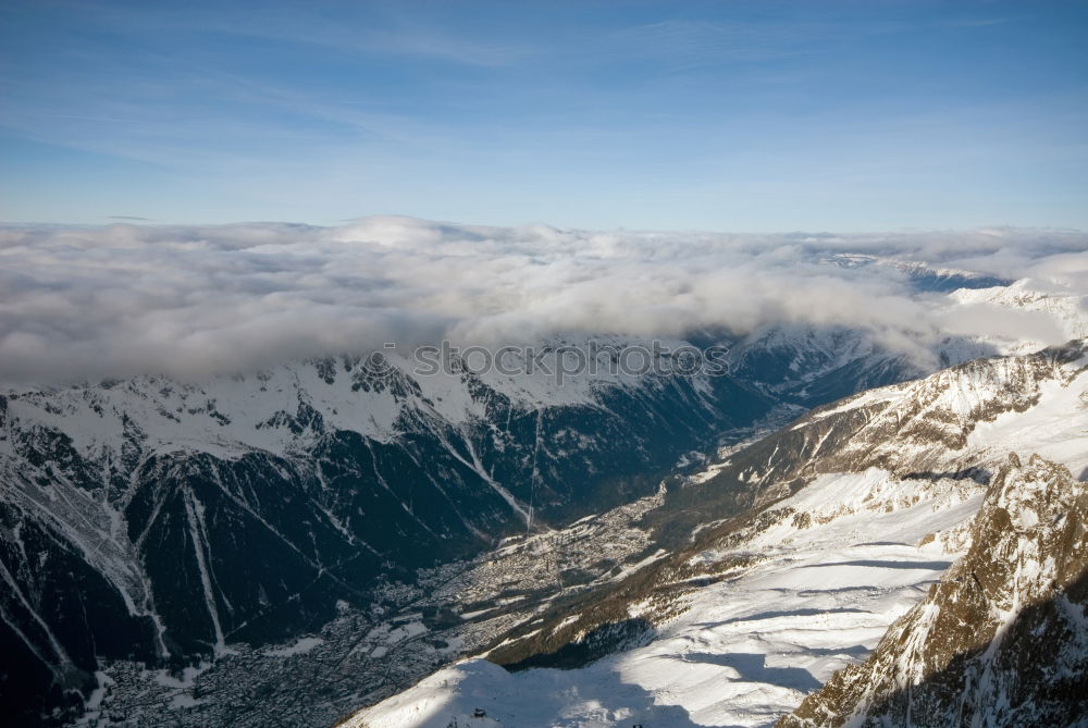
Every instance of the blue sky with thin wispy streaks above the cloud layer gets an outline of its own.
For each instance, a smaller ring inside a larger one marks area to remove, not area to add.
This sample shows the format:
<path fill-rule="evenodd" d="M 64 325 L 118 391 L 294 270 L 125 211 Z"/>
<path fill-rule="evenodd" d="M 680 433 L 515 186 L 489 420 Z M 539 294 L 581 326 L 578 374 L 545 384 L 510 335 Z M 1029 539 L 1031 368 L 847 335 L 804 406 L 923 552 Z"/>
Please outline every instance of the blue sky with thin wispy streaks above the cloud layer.
<path fill-rule="evenodd" d="M 0 4 L 0 220 L 1088 229 L 1088 3 Z"/>

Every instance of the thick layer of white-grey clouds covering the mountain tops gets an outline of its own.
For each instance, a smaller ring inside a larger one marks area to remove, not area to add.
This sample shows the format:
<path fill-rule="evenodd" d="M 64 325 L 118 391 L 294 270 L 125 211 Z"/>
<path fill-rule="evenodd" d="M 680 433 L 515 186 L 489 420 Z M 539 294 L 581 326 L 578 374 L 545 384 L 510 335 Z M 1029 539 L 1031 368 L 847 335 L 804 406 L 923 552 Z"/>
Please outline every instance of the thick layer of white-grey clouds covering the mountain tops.
<path fill-rule="evenodd" d="M 1088 234 L 1053 230 L 728 235 L 395 217 L 336 227 L 9 225 L 0 384 L 199 380 L 386 342 L 742 335 L 779 323 L 854 326 L 924 356 L 949 331 L 1046 325 L 950 312 L 945 296 L 919 293 L 902 267 L 869 256 L 1088 293 Z"/>

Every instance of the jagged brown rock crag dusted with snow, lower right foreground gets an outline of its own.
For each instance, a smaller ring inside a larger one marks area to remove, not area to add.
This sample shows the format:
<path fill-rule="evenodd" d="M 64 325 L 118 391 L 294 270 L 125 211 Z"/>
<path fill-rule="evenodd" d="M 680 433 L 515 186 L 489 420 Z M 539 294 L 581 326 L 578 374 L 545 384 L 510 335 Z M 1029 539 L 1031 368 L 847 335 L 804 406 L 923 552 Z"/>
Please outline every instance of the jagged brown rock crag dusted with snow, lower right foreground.
<path fill-rule="evenodd" d="M 967 555 L 778 727 L 1085 725 L 1086 519 L 1085 482 L 1010 456 Z"/>

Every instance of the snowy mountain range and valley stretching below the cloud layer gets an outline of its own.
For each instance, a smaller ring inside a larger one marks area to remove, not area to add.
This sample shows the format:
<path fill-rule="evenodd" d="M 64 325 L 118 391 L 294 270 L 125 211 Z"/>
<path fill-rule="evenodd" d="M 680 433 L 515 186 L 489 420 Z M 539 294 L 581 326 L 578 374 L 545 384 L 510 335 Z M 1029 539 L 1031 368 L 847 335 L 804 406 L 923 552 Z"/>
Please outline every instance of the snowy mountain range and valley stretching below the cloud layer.
<path fill-rule="evenodd" d="M 722 375 L 556 386 L 465 362 L 419 375 L 391 354 L 381 371 L 344 355 L 9 392 L 0 711 L 331 725 L 373 705 L 353 725 L 446 728 L 796 710 L 783 725 L 838 725 L 899 715 L 904 684 L 941 675 L 976 686 L 981 711 L 1004 689 L 991 676 L 1011 686 L 1010 661 L 1030 656 L 999 639 L 1014 628 L 1070 645 L 1054 669 L 1083 680 L 1080 301 L 907 273 L 954 306 L 1042 311 L 1075 343 L 948 336 L 930 373 L 865 331 L 775 325 L 668 342 L 727 349 Z M 1002 520 L 1010 498 L 1036 521 Z M 979 579 L 972 619 L 992 628 L 952 625 L 935 645 L 934 605 L 1014 552 L 1035 558 L 1031 584 Z M 1009 705 L 1051 715 L 1064 703 L 1040 690 L 1076 694 L 1040 670 L 1000 693 Z M 950 694 L 927 693 L 932 725 Z"/>

